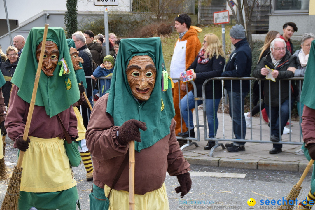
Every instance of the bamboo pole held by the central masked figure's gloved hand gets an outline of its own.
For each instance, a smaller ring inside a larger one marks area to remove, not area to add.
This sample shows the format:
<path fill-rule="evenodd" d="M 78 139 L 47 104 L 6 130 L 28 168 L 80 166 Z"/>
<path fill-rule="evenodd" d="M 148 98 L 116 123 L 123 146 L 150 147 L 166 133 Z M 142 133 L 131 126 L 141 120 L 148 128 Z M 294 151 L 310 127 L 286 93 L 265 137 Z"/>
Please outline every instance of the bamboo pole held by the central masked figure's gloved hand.
<path fill-rule="evenodd" d="M 135 210 L 135 141 L 129 144 L 129 210 Z"/>

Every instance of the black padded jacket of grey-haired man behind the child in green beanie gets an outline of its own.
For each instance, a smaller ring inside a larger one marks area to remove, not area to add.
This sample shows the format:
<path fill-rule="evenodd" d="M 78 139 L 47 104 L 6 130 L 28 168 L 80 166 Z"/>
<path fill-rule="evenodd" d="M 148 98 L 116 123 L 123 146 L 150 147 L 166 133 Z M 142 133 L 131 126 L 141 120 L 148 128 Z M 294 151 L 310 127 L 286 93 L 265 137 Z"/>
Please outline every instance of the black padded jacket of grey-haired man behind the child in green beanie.
<path fill-rule="evenodd" d="M 77 51 L 79 52 L 79 57 L 83 59 L 82 66 L 83 66 L 85 76 L 91 76 L 93 74 L 92 54 L 89 51 L 88 46 L 83 45 L 81 48 L 77 49 Z M 86 79 L 86 84 L 88 86 L 86 95 L 90 97 L 92 96 L 91 79 Z"/>

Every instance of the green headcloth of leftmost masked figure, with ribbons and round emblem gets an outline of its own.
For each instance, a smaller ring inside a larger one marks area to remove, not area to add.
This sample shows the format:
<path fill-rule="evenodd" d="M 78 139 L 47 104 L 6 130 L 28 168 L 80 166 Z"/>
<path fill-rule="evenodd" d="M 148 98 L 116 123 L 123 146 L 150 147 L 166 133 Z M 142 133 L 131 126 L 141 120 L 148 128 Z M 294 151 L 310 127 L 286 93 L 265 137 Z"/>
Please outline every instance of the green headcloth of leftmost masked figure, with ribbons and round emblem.
<path fill-rule="evenodd" d="M 28 103 L 31 102 L 38 66 L 35 52 L 37 45 L 43 41 L 43 34 L 44 28 L 31 29 L 23 48 L 23 55 L 11 80 L 19 88 L 18 96 Z M 61 65 L 56 66 L 52 77 L 46 76 L 43 71 L 40 73 L 35 105 L 44 106 L 47 115 L 52 117 L 77 102 L 80 92 L 63 28 L 48 28 L 47 40 L 57 44 L 59 60 L 64 57 L 70 69 L 69 74 L 62 76 L 59 76 Z"/>

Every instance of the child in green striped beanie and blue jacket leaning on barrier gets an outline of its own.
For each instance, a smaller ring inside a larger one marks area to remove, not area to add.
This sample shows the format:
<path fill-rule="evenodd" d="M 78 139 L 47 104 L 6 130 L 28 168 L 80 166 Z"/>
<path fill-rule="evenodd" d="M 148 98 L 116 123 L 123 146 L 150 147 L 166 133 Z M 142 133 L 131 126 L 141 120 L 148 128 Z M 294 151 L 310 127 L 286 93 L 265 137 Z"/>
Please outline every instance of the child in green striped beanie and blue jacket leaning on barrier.
<path fill-rule="evenodd" d="M 103 59 L 103 63 L 99 65 L 93 72 L 91 77 L 111 77 L 114 71 L 115 60 L 113 56 L 106 55 Z M 100 90 L 95 94 L 94 100 L 96 101 L 99 97 L 105 94 L 106 90 L 111 87 L 111 79 L 100 79 Z"/>

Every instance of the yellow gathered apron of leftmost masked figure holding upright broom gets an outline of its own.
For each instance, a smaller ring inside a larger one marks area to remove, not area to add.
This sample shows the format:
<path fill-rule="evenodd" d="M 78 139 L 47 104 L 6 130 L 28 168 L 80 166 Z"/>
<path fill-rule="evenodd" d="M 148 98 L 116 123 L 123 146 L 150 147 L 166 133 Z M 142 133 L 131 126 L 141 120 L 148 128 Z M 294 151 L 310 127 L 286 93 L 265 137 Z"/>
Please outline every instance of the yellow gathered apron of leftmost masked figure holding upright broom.
<path fill-rule="evenodd" d="M 20 191 L 56 192 L 77 185 L 64 140 L 29 136 L 31 142 L 24 154 Z"/>

